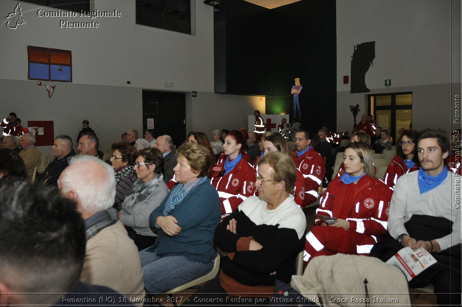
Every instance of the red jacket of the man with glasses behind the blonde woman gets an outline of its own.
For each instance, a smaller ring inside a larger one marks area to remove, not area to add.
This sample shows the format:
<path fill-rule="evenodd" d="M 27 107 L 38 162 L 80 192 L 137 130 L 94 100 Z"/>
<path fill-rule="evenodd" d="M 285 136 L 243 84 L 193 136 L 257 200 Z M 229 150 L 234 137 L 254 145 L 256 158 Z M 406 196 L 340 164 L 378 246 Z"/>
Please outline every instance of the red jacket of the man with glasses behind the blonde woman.
<path fill-rule="evenodd" d="M 292 154 L 295 167 L 300 171 L 305 180 L 305 196 L 303 208 L 316 202 L 318 189 L 326 173 L 324 158 L 311 147 L 306 153 L 298 157 L 297 151 Z"/>

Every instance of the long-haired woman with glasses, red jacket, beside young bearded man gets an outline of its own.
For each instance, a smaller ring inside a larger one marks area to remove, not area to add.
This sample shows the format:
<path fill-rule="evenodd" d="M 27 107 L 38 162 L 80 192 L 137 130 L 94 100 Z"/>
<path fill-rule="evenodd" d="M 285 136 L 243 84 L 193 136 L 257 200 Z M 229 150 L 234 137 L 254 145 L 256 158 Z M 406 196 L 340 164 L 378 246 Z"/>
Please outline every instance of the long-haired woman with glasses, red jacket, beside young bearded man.
<path fill-rule="evenodd" d="M 391 160 L 383 182 L 390 188 L 394 188 L 396 180 L 408 172 L 418 171 L 420 168 L 419 159 L 414 159 L 417 152 L 414 140 L 419 138 L 419 132 L 415 130 L 404 130 L 396 144 L 396 155 Z"/>

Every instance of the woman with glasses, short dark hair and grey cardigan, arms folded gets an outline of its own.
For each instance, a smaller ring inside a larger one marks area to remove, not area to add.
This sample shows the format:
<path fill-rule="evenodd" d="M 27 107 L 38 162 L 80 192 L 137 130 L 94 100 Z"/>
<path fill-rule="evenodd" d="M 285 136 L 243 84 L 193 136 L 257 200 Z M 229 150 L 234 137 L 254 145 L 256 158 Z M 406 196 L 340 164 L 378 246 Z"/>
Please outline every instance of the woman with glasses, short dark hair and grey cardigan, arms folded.
<path fill-rule="evenodd" d="M 149 215 L 169 192 L 163 180 L 163 167 L 164 159 L 157 148 L 143 149 L 138 153 L 133 167 L 138 180 L 127 189 L 122 210 L 118 214 L 139 251 L 156 240 L 157 233 L 149 227 Z"/>

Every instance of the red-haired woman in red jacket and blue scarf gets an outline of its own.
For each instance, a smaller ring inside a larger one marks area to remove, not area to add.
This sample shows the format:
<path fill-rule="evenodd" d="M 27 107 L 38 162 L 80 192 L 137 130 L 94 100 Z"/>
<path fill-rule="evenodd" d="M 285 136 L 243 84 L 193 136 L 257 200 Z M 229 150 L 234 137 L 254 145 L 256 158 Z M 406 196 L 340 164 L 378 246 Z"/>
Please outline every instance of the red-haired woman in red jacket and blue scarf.
<path fill-rule="evenodd" d="M 245 131 L 231 130 L 225 137 L 223 153 L 213 167 L 210 183 L 220 196 L 222 219 L 254 193 L 255 170 L 244 151 L 247 137 Z"/>

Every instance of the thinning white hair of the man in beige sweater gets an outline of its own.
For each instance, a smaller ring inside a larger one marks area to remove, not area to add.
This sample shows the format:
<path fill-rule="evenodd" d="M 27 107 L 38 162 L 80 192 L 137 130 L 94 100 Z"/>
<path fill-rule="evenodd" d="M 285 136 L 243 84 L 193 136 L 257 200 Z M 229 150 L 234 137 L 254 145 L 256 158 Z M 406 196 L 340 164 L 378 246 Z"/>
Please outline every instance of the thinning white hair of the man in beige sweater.
<path fill-rule="evenodd" d="M 74 191 L 86 212 L 109 209 L 116 196 L 116 177 L 109 164 L 96 157 L 80 154 L 69 160 L 61 173 L 62 192 Z"/>

